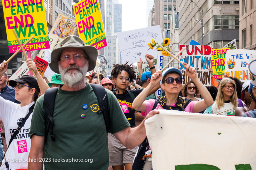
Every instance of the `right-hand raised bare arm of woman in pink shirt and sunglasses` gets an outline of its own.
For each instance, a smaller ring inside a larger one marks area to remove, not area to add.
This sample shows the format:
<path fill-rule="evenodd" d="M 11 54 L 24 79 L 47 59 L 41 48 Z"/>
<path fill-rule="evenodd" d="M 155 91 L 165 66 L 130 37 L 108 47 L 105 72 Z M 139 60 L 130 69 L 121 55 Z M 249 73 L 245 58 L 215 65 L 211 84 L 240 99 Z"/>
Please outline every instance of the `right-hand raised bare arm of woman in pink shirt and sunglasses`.
<path fill-rule="evenodd" d="M 213 99 L 210 92 L 205 88 L 197 75 L 193 73 L 194 71 L 196 71 L 196 69 L 194 67 L 191 67 L 187 63 L 184 63 L 184 66 L 186 68 L 186 74 L 195 83 L 197 88 L 200 90 L 202 97 L 204 98 L 203 100 L 196 102 L 196 104 L 194 105 L 194 112 L 199 113 L 205 110 L 207 107 L 211 106 L 213 103 Z"/>

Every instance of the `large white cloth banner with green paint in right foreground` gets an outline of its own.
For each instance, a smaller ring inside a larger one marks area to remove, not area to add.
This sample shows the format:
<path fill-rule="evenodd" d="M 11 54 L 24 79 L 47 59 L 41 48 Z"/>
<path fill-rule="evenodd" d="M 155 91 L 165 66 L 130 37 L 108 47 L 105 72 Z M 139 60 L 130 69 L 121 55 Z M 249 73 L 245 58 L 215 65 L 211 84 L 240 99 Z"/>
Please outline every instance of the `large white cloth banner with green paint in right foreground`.
<path fill-rule="evenodd" d="M 154 170 L 256 169 L 256 119 L 160 110 L 145 121 Z"/>

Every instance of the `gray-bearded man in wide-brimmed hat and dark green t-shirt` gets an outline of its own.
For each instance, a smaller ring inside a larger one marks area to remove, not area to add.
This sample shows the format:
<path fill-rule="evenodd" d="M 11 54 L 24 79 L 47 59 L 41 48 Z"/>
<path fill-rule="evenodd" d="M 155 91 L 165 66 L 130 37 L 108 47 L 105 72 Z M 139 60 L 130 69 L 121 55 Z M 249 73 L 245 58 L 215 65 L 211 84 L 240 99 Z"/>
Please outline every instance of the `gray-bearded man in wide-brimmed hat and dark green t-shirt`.
<path fill-rule="evenodd" d="M 61 74 L 64 83 L 54 102 L 54 140 L 45 134 L 42 95 L 36 101 L 31 120 L 28 170 L 42 170 L 43 163 L 44 169 L 108 169 L 107 128 L 103 114 L 98 113 L 102 108 L 92 86 L 84 82 L 86 72 L 95 68 L 97 55 L 97 48 L 86 46 L 75 35 L 68 36 L 52 51 L 49 66 Z M 104 91 L 108 98 L 109 130 L 124 146 L 133 149 L 146 137 L 144 121 L 131 129 L 114 94 L 105 88 Z M 156 113 L 159 112 L 155 110 L 146 118 Z"/>

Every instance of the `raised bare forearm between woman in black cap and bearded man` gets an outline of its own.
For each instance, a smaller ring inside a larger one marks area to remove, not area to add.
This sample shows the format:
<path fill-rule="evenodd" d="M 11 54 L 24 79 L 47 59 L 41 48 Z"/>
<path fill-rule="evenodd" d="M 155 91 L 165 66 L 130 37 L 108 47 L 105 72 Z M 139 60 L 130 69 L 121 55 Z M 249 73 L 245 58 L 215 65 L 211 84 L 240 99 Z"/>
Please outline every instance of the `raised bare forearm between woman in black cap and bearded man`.
<path fill-rule="evenodd" d="M 27 62 L 27 66 L 29 68 L 29 70 L 33 70 L 36 74 L 36 80 L 37 80 L 37 83 L 38 83 L 38 86 L 42 92 L 42 94 L 45 93 L 45 91 L 50 88 L 49 85 L 44 81 L 44 78 L 42 78 L 42 76 L 40 75 L 40 73 L 37 71 L 36 69 L 36 63 L 33 62 L 30 58 L 28 58 L 26 60 Z"/>

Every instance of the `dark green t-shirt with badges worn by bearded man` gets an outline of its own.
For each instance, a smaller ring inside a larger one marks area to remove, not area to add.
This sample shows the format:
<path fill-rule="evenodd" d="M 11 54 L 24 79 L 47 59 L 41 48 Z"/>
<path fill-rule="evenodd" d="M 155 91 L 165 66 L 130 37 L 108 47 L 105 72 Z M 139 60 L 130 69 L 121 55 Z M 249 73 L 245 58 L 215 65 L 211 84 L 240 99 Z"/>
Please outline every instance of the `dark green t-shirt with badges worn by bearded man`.
<path fill-rule="evenodd" d="M 106 92 L 110 131 L 116 133 L 130 124 L 114 94 L 107 89 Z M 33 111 L 30 137 L 45 136 L 43 96 L 37 100 Z M 86 110 L 83 109 L 84 104 L 88 105 Z M 52 117 L 56 140 L 52 141 L 48 135 L 44 144 L 45 169 L 108 169 L 106 125 L 103 115 L 96 112 L 97 107 L 97 97 L 89 84 L 84 89 L 74 92 L 58 90 Z M 84 118 L 82 114 L 85 115 Z"/>

